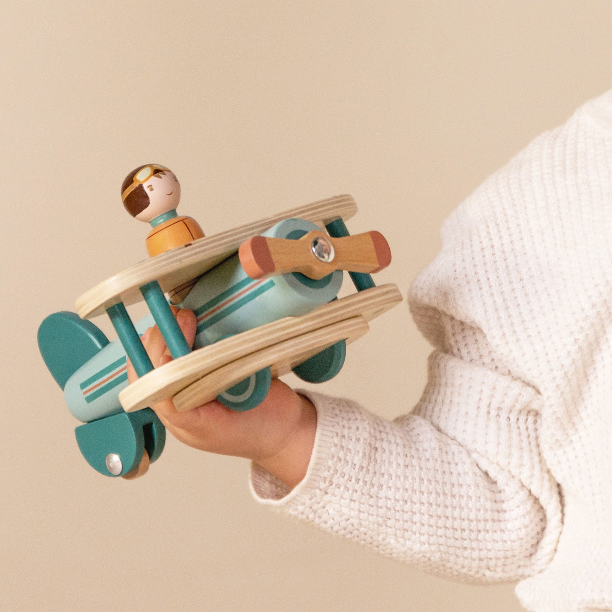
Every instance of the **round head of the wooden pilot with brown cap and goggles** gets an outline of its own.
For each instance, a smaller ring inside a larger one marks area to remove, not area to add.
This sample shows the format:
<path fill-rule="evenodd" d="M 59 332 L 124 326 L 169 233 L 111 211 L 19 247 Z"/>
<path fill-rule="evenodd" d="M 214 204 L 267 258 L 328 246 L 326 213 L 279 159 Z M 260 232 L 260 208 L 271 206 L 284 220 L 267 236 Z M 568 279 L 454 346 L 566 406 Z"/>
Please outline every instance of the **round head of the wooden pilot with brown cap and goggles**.
<path fill-rule="evenodd" d="M 179 205 L 181 185 L 168 168 L 149 163 L 125 177 L 121 200 L 132 217 L 149 222 Z"/>

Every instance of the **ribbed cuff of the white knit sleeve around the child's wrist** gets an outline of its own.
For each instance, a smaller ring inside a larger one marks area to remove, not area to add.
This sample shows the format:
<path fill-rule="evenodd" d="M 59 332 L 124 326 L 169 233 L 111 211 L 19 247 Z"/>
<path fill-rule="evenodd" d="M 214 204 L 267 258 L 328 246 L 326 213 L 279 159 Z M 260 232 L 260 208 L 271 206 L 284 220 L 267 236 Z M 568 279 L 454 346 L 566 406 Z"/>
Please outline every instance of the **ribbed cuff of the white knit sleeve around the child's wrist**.
<path fill-rule="evenodd" d="M 288 512 L 308 506 L 320 498 L 329 487 L 329 472 L 337 440 L 338 400 L 304 389 L 299 389 L 298 392 L 312 401 L 316 408 L 315 445 L 306 476 L 291 490 L 256 463 L 251 463 L 250 471 L 250 488 L 255 499 Z"/>

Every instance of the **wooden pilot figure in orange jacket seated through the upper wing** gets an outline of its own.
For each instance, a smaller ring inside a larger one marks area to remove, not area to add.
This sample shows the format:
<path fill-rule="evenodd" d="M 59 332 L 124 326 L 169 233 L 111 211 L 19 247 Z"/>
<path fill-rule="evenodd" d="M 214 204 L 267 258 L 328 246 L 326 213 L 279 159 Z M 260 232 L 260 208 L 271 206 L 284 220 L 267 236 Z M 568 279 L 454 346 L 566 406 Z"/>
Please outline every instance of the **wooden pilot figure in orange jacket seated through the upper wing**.
<path fill-rule="evenodd" d="M 165 166 L 149 163 L 132 170 L 121 185 L 121 200 L 132 217 L 151 223 L 153 229 L 146 238 L 147 253 L 151 257 L 204 237 L 195 219 L 177 215 L 181 185 Z M 173 304 L 179 304 L 187 296 L 196 280 L 169 292 Z"/>

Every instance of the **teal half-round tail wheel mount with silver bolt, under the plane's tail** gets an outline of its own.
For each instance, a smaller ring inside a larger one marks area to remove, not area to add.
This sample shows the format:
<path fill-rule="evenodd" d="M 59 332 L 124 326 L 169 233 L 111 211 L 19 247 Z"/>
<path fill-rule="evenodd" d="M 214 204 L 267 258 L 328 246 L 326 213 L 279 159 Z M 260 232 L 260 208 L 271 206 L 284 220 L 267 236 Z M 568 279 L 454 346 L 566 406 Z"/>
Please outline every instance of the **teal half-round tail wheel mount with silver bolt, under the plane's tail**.
<path fill-rule="evenodd" d="M 103 476 L 124 476 L 140 465 L 146 450 L 157 460 L 166 442 L 166 428 L 151 408 L 119 412 L 80 425 L 76 443 L 89 465 Z"/>

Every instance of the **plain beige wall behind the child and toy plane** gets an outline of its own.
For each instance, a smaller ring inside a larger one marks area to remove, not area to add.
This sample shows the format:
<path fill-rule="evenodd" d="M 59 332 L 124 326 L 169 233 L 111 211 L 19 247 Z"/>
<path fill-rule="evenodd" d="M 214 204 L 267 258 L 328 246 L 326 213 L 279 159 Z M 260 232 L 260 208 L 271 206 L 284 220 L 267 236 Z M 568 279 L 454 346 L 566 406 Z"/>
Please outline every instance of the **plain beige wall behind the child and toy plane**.
<path fill-rule="evenodd" d="M 144 479 L 97 475 L 35 334 L 146 256 L 119 187 L 147 162 L 207 234 L 351 193 L 349 227 L 387 236 L 379 281 L 406 294 L 453 207 L 610 88 L 611 43 L 609 1 L 2 2 L 0 609 L 520 610 L 512 585 L 257 506 L 244 460 L 170 439 Z M 323 389 L 395 417 L 428 352 L 403 304 Z"/>

